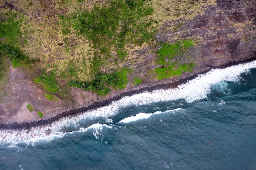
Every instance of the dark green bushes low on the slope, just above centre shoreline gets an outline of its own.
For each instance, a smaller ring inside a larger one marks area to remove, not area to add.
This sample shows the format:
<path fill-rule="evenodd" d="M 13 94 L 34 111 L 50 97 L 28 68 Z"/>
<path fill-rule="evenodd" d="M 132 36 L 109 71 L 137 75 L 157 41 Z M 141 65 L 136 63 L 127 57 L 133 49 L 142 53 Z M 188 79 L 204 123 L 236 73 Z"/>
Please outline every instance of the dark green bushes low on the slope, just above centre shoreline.
<path fill-rule="evenodd" d="M 125 88 L 127 82 L 127 69 L 123 69 L 120 72 L 114 74 L 98 74 L 92 82 L 82 82 L 78 80 L 70 80 L 67 85 L 71 87 L 83 88 L 88 91 L 97 92 L 98 95 L 105 95 L 110 92 L 110 86 L 114 89 Z"/>

